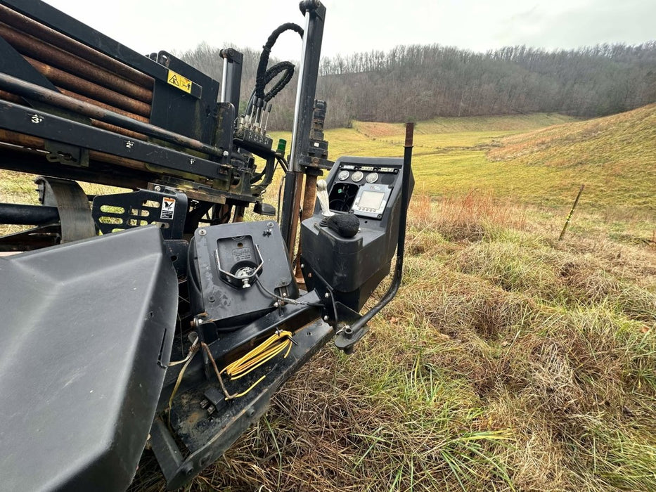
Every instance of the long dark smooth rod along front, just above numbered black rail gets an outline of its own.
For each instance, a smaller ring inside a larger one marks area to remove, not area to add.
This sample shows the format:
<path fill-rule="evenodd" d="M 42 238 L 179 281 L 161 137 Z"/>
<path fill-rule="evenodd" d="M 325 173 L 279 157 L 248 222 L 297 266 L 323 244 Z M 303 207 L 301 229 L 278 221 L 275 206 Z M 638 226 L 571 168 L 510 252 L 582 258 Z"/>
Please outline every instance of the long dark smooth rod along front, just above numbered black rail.
<path fill-rule="evenodd" d="M 31 84 L 16 77 L 11 77 L 4 73 L 0 73 L 0 89 L 17 93 L 19 96 L 41 101 L 49 105 L 56 106 L 76 112 L 90 118 L 98 119 L 105 123 L 114 124 L 117 127 L 122 127 L 132 131 L 136 131 L 155 138 L 175 143 L 181 147 L 198 150 L 200 153 L 214 155 L 216 157 L 224 157 L 224 150 L 213 145 L 207 145 L 195 138 L 189 138 L 184 135 L 176 134 L 173 131 L 165 130 L 160 127 L 155 127 L 152 124 L 138 122 L 134 119 L 119 115 L 115 112 L 98 108 L 93 104 L 78 101 L 77 99 L 64 96 L 61 93 L 51 91 L 37 84 Z"/>

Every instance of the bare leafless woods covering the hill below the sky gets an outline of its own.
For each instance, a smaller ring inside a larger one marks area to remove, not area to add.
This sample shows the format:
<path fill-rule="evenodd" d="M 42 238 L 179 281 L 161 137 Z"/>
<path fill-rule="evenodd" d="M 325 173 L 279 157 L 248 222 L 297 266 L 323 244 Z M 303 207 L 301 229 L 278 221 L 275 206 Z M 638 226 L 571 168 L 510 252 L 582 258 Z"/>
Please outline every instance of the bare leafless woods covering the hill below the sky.
<path fill-rule="evenodd" d="M 255 84 L 259 53 L 245 53 L 242 99 Z M 218 49 L 182 55 L 221 79 Z M 271 128 L 290 128 L 295 80 L 275 100 Z M 317 97 L 327 126 L 352 119 L 402 122 L 437 116 L 561 112 L 596 117 L 656 101 L 656 41 L 546 51 L 512 46 L 474 53 L 449 46 L 397 46 L 323 58 Z"/>

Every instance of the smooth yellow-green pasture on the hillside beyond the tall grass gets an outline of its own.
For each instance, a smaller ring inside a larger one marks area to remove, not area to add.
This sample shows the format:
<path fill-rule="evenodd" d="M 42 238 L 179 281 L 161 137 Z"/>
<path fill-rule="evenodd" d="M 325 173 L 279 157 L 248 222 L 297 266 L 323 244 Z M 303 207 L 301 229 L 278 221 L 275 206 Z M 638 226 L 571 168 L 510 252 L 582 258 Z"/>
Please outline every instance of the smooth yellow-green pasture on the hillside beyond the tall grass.
<path fill-rule="evenodd" d="M 555 126 L 541 128 L 548 124 Z M 400 156 L 404 126 L 354 122 L 326 138 L 333 159 Z M 579 210 L 656 218 L 656 105 L 584 122 L 543 114 L 435 119 L 417 124 L 414 146 L 420 193 L 475 189 L 567 207 L 585 184 Z"/>

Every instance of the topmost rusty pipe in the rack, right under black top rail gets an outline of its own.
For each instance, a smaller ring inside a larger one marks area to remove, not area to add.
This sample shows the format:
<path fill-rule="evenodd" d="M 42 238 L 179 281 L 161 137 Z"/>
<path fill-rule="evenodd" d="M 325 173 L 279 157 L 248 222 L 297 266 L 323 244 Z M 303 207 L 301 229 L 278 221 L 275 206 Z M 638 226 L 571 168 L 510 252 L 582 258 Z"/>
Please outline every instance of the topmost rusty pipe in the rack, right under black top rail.
<path fill-rule="evenodd" d="M 42 41 L 46 41 L 53 46 L 62 48 L 64 51 L 77 55 L 80 58 L 84 58 L 84 60 L 95 63 L 116 75 L 120 75 L 124 79 L 131 80 L 139 86 L 152 88 L 155 83 L 152 77 L 143 72 L 139 72 L 139 70 L 135 70 L 100 51 L 96 51 L 94 48 L 86 46 L 86 44 L 75 41 L 75 39 L 67 37 L 65 34 L 61 34 L 60 32 L 57 32 L 36 20 L 32 20 L 21 13 L 13 11 L 11 8 L 4 5 L 0 5 L 0 20 L 19 31 L 29 32 Z"/>

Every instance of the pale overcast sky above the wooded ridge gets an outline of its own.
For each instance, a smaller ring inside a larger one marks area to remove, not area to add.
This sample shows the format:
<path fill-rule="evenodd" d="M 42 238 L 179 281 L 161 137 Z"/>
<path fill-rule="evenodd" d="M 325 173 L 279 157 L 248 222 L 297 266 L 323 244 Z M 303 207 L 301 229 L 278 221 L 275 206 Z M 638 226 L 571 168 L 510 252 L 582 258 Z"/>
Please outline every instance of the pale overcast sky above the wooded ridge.
<path fill-rule="evenodd" d="M 261 48 L 283 22 L 304 25 L 297 0 L 46 0 L 140 53 L 201 41 Z M 323 0 L 322 55 L 442 44 L 487 51 L 525 44 L 576 48 L 656 39 L 656 0 Z M 272 56 L 297 60 L 297 34 Z"/>

